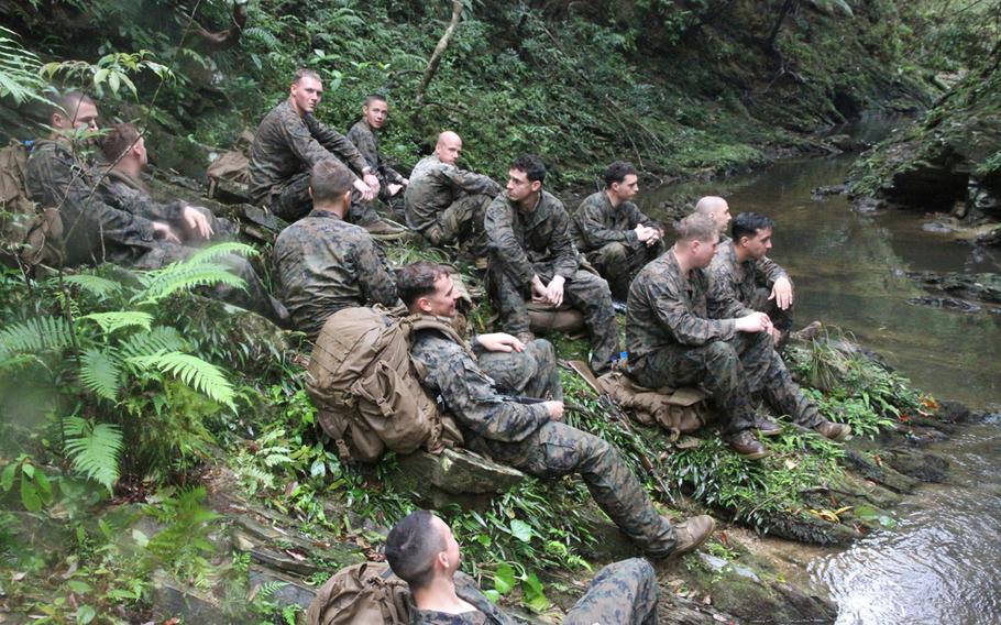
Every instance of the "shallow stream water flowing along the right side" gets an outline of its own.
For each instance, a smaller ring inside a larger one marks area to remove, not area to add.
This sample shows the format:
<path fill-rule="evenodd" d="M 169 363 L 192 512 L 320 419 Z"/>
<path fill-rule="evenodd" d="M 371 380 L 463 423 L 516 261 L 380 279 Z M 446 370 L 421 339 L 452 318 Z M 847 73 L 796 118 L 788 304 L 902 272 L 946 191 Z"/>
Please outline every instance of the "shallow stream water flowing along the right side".
<path fill-rule="evenodd" d="M 795 320 L 851 330 L 914 384 L 975 408 L 1001 404 L 1001 315 L 909 303 L 923 294 L 906 271 L 1001 271 L 1001 253 L 925 232 L 921 216 L 862 216 L 847 199 L 811 199 L 844 180 L 848 157 L 780 162 L 751 176 L 648 194 L 646 210 L 683 193 L 724 195 L 730 211 L 776 219 L 770 256 L 795 285 Z M 946 484 L 922 487 L 893 531 L 820 557 L 809 569 L 839 605 L 842 624 L 1001 623 L 1001 427 L 964 429 L 938 450 Z"/>

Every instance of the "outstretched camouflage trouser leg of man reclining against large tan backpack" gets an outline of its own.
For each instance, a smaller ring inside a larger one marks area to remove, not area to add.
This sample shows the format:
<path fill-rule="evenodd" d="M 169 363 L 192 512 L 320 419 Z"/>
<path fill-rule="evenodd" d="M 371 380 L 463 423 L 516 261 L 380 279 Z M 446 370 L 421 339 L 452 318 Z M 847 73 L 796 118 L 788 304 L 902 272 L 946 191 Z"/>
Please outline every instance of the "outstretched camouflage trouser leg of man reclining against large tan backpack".
<path fill-rule="evenodd" d="M 476 443 L 499 462 L 537 478 L 580 473 L 594 502 L 647 555 L 661 558 L 674 549 L 674 528 L 658 514 L 618 451 L 605 440 L 549 421 L 517 442 L 479 439 Z"/>

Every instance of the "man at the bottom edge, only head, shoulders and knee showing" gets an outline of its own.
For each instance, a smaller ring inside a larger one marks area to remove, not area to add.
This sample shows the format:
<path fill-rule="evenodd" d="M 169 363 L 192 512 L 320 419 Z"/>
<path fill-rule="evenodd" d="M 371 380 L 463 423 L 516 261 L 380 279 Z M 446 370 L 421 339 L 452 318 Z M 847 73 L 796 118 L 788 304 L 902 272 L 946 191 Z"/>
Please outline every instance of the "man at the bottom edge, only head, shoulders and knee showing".
<path fill-rule="evenodd" d="M 472 584 L 457 588 L 462 556 L 452 530 L 419 509 L 389 530 L 386 560 L 410 586 L 417 610 L 413 625 L 515 625 Z M 657 575 L 639 558 L 608 564 L 563 617 L 564 625 L 652 625 L 657 622 Z"/>

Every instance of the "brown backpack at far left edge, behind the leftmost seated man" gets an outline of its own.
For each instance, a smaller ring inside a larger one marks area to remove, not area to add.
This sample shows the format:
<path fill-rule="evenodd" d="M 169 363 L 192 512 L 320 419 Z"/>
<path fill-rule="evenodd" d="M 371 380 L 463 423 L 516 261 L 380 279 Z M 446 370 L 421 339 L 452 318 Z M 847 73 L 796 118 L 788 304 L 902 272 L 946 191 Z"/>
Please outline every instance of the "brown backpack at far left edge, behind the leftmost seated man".
<path fill-rule="evenodd" d="M 63 220 L 56 208 L 40 209 L 31 200 L 26 172 L 28 147 L 11 140 L 0 150 L 0 257 L 12 265 L 56 263 Z"/>

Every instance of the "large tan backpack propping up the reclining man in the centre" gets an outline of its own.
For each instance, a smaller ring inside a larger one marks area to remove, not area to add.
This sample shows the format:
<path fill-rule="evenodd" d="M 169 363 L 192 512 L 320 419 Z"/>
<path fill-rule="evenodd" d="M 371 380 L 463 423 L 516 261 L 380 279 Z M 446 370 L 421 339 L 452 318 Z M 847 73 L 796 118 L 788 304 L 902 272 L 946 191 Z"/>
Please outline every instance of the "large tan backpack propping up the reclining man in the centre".
<path fill-rule="evenodd" d="M 410 358 L 410 336 L 425 328 L 461 341 L 447 320 L 397 318 L 381 307 L 345 308 L 327 319 L 306 388 L 342 457 L 372 462 L 385 449 L 439 453 L 462 443 L 454 421 L 421 387 L 424 368 Z"/>

